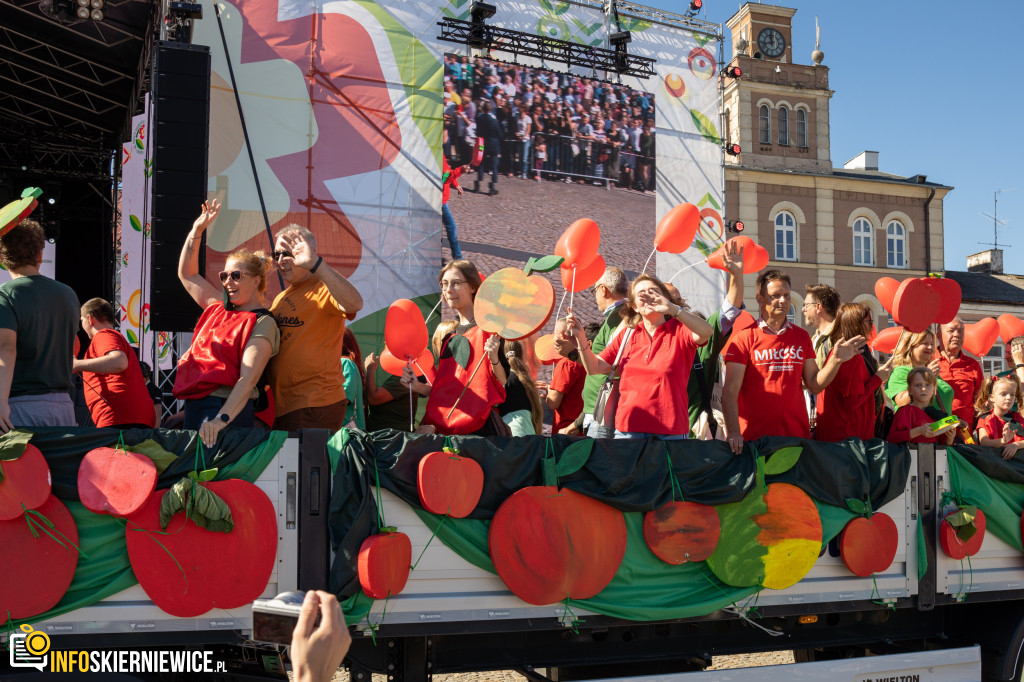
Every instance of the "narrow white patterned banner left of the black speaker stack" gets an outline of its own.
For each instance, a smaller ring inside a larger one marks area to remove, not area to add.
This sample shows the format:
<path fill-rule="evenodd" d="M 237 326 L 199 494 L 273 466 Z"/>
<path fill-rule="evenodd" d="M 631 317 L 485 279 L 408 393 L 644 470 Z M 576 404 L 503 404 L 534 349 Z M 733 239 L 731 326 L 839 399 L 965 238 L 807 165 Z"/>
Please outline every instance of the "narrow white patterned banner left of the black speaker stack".
<path fill-rule="evenodd" d="M 150 97 L 141 114 L 131 120 L 131 137 L 121 151 L 121 333 L 138 347 L 139 358 L 150 367 L 169 369 L 167 334 L 157 339 L 150 330 Z M 155 361 L 156 360 L 156 361 Z"/>

